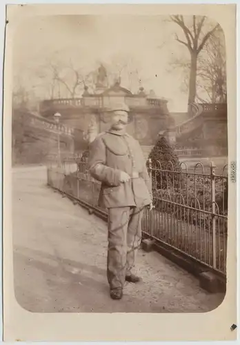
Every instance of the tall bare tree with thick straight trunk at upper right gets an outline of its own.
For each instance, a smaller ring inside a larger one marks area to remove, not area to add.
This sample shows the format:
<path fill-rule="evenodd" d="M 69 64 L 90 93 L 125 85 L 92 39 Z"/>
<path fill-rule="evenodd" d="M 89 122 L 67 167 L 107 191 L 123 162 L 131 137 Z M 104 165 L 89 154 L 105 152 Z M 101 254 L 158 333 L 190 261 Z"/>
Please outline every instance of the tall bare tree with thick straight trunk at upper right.
<path fill-rule="evenodd" d="M 211 35 L 219 27 L 219 24 L 208 30 L 206 33 L 203 33 L 203 28 L 206 23 L 205 16 L 192 16 L 192 22 L 188 25 L 182 15 L 173 15 L 170 16 L 170 19 L 181 28 L 185 37 L 185 40 L 183 41 L 179 39 L 176 34 L 176 41 L 181 43 L 183 46 L 186 46 L 190 52 L 190 76 L 188 83 L 188 112 L 190 112 L 190 105 L 195 101 L 196 97 L 197 58 L 201 50 L 203 50 L 206 45 L 208 39 L 210 39 Z"/>

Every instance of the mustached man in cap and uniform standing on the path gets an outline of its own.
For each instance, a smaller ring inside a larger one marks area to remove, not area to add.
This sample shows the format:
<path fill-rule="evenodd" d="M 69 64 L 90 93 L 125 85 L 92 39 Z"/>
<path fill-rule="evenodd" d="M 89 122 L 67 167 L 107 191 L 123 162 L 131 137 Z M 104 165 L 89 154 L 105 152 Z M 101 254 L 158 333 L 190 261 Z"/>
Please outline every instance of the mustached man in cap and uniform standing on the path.
<path fill-rule="evenodd" d="M 143 208 L 152 209 L 152 186 L 139 142 L 126 132 L 129 108 L 110 108 L 110 130 L 90 144 L 90 175 L 101 181 L 99 206 L 108 208 L 108 268 L 110 297 L 121 299 L 125 282 L 137 283 L 132 273 L 141 244 Z"/>

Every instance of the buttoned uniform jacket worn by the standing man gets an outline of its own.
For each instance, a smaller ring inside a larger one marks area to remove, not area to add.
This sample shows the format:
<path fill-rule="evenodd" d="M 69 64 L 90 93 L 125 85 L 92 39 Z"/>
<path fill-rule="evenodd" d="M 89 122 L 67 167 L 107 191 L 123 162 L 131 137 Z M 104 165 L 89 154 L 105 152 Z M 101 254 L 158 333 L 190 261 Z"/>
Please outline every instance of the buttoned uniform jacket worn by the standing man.
<path fill-rule="evenodd" d="M 141 146 L 126 132 L 109 130 L 98 135 L 90 144 L 88 169 L 101 181 L 99 206 L 141 207 L 152 202 L 152 184 Z M 119 181 L 121 171 L 132 177 L 129 182 Z"/>

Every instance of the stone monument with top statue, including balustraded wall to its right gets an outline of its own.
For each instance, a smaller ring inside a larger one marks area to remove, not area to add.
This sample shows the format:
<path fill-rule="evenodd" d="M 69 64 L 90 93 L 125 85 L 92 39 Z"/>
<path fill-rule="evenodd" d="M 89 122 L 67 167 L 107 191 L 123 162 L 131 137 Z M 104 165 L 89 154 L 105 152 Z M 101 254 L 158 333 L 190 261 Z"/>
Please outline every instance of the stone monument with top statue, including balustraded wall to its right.
<path fill-rule="evenodd" d="M 159 135 L 164 135 L 180 157 L 228 155 L 227 104 L 194 104 L 188 113 L 170 114 L 168 101 L 146 95 L 143 88 L 133 94 L 117 80 L 108 88 L 106 70 L 99 67 L 94 93 L 86 86 L 81 98 L 49 99 L 40 103 L 41 117 L 61 114 L 61 123 L 74 128 L 74 151 L 82 152 L 88 143 L 109 127 L 108 107 L 115 101 L 130 108 L 128 133 L 139 140 L 147 157 Z M 178 119 L 178 120 L 177 120 Z"/>

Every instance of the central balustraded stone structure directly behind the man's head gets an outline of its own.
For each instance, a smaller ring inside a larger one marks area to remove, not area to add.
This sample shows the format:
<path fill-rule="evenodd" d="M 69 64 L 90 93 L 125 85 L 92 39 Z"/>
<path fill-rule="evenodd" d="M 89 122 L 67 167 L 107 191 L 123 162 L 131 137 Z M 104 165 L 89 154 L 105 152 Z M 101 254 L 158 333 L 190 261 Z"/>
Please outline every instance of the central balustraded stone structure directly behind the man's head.
<path fill-rule="evenodd" d="M 137 94 L 132 94 L 119 82 L 110 88 L 98 89 L 94 94 L 90 94 L 86 87 L 81 98 L 43 101 L 40 112 L 45 118 L 52 118 L 55 112 L 59 112 L 63 124 L 82 132 L 81 138 L 75 138 L 75 149 L 81 150 L 81 146 L 86 146 L 86 142 L 92 141 L 99 132 L 108 128 L 110 115 L 106 110 L 115 101 L 125 102 L 129 106 L 131 121 L 127 130 L 141 145 L 154 145 L 159 131 L 174 126 L 166 100 L 148 97 L 143 88 Z"/>

